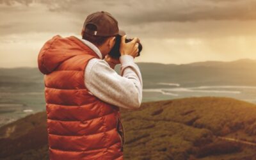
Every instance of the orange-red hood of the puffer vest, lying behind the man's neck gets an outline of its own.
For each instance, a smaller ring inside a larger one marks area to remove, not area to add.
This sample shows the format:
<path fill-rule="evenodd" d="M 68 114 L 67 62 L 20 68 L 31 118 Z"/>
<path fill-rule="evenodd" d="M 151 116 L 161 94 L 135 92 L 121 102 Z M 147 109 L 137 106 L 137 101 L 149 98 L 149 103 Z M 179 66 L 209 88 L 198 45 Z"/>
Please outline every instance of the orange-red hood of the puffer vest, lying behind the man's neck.
<path fill-rule="evenodd" d="M 63 61 L 79 54 L 93 54 L 99 56 L 81 42 L 76 36 L 66 38 L 60 35 L 53 36 L 45 42 L 38 54 L 38 68 L 43 74 L 53 72 Z"/>

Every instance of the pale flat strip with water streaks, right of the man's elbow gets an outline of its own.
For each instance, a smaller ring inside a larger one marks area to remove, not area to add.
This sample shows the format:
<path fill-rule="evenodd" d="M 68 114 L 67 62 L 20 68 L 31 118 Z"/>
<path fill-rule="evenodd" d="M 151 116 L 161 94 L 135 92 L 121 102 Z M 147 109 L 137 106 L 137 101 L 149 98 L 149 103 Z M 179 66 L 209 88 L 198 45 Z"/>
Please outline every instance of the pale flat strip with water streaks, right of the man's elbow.
<path fill-rule="evenodd" d="M 182 97 L 232 97 L 256 104 L 256 86 L 191 86 L 182 87 L 177 83 L 163 84 L 163 88 L 145 88 L 143 90 L 143 102 L 150 100 L 177 99 Z"/>

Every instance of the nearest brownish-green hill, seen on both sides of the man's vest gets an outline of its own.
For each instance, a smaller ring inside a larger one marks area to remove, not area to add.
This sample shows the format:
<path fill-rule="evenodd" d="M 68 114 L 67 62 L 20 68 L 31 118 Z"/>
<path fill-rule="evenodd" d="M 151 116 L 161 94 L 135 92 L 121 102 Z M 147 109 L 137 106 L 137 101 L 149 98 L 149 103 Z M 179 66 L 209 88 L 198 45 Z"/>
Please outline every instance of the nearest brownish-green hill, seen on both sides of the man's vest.
<path fill-rule="evenodd" d="M 256 105 L 227 97 L 191 97 L 121 108 L 125 159 L 255 159 Z M 49 159 L 46 113 L 0 128 L 0 158 Z M 5 157 L 5 158 L 4 158 Z"/>

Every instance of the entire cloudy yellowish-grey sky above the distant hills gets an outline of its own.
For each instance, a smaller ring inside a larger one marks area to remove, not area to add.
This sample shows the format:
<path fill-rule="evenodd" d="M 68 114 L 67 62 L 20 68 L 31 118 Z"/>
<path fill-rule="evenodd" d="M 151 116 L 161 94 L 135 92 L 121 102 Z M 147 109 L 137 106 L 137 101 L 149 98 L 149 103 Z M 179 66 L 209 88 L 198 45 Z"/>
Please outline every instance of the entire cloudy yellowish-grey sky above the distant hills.
<path fill-rule="evenodd" d="M 256 0 L 0 0 L 0 67 L 36 67 L 47 40 L 101 10 L 140 38 L 136 62 L 256 59 Z"/>

